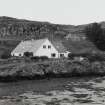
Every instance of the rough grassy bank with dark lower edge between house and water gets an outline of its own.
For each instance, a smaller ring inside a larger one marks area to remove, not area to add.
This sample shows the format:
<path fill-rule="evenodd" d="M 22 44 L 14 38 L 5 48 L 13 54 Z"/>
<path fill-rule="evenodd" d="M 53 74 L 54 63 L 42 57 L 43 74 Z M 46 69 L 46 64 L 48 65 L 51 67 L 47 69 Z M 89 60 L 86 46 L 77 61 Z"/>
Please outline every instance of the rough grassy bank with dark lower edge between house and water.
<path fill-rule="evenodd" d="M 88 59 L 82 61 L 69 59 L 50 60 L 46 57 L 42 57 L 38 61 L 34 60 L 27 57 L 1 60 L 0 80 L 11 81 L 105 75 L 105 61 L 90 62 Z"/>

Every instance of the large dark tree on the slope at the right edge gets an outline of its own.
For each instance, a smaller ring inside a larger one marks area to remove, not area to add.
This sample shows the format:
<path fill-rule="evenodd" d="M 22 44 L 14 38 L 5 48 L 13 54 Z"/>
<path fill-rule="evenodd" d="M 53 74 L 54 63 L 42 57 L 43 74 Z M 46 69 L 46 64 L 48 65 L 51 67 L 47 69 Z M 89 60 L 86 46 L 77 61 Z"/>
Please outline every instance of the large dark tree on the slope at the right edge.
<path fill-rule="evenodd" d="M 105 31 L 101 28 L 100 24 L 93 23 L 87 26 L 85 33 L 87 38 L 92 41 L 98 49 L 105 51 Z"/>

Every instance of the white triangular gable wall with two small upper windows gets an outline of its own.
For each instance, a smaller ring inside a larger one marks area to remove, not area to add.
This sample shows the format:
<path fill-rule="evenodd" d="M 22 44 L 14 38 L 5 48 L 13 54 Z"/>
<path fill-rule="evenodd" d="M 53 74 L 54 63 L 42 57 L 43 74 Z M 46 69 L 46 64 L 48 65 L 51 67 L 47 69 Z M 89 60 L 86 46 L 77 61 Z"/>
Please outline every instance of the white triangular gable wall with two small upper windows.
<path fill-rule="evenodd" d="M 43 46 L 46 46 L 46 48 L 43 48 Z M 48 48 L 48 46 L 51 46 L 51 48 Z M 55 54 L 55 57 L 52 57 L 52 54 Z M 55 47 L 49 40 L 46 40 L 33 55 L 48 56 L 49 58 L 59 58 L 58 51 L 55 49 Z"/>

